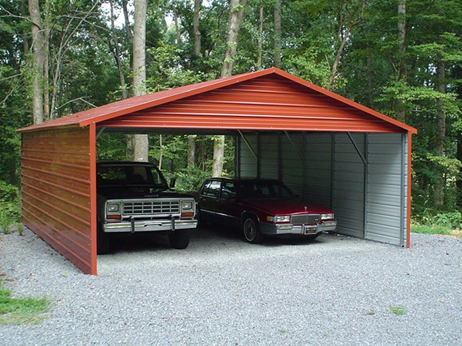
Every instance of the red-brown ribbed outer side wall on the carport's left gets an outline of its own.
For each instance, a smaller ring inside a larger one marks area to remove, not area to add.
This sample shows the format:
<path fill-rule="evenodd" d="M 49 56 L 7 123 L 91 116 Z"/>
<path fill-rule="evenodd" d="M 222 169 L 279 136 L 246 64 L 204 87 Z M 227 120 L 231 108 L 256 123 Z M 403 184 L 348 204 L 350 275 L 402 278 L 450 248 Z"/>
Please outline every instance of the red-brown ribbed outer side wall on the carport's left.
<path fill-rule="evenodd" d="M 23 133 L 23 223 L 84 273 L 92 272 L 88 128 Z"/>

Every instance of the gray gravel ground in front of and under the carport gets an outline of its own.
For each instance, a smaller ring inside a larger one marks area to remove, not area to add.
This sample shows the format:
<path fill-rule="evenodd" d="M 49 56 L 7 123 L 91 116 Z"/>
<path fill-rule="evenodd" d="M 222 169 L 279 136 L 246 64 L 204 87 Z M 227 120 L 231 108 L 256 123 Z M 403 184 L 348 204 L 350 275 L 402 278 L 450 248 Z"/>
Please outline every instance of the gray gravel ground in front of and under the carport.
<path fill-rule="evenodd" d="M 120 239 L 90 276 L 30 231 L 0 238 L 4 285 L 53 302 L 40 324 L 0 325 L 1 345 L 462 345 L 461 239 L 196 230 L 186 250 Z"/>

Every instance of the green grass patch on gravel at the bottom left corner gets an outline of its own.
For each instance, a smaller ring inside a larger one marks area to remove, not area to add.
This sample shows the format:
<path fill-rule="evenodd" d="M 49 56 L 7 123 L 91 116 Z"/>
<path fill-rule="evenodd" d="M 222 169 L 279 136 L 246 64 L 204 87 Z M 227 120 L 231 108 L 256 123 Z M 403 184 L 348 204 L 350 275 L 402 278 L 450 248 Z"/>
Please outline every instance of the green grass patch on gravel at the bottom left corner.
<path fill-rule="evenodd" d="M 46 319 L 48 298 L 11 298 L 11 291 L 0 282 L 0 324 L 36 324 Z"/>

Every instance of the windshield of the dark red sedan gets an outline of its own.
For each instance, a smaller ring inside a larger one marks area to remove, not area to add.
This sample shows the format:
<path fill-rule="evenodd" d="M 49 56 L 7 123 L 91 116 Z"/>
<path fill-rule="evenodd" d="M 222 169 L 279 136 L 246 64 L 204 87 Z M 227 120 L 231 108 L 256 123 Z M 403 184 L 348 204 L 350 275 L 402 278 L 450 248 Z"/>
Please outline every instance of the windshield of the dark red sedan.
<path fill-rule="evenodd" d="M 290 189 L 279 181 L 242 181 L 236 184 L 242 199 L 293 198 Z"/>

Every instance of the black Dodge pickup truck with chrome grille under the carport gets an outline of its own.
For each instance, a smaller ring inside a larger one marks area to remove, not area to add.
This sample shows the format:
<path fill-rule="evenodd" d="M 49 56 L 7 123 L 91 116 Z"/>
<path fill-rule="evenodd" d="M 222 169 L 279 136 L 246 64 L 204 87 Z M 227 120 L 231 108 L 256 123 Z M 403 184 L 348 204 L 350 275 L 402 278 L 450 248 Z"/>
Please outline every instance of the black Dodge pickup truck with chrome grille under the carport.
<path fill-rule="evenodd" d="M 156 165 L 137 161 L 102 161 L 96 165 L 97 253 L 109 252 L 114 233 L 165 232 L 170 245 L 185 249 L 196 228 L 191 195 L 172 190 Z"/>

